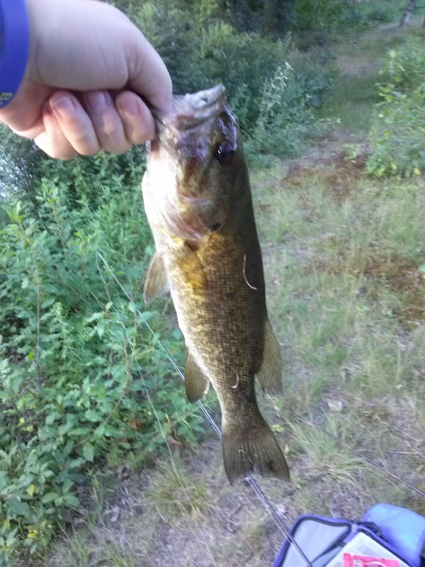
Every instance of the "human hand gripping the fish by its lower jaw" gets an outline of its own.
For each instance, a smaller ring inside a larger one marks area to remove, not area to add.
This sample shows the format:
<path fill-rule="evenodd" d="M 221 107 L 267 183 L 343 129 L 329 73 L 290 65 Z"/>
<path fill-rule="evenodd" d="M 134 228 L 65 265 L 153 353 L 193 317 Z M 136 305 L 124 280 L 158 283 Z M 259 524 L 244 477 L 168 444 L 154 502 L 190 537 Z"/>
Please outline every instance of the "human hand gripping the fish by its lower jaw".
<path fill-rule="evenodd" d="M 122 153 L 152 139 L 154 119 L 139 95 L 168 111 L 171 79 L 127 16 L 97 0 L 26 4 L 26 73 L 0 120 L 60 159 Z"/>

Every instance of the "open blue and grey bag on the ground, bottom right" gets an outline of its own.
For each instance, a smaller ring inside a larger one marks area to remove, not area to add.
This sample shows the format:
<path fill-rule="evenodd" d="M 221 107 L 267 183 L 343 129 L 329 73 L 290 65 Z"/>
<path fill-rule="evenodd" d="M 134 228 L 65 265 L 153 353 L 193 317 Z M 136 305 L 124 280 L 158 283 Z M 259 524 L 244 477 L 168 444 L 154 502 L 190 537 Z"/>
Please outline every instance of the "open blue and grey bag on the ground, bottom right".
<path fill-rule="evenodd" d="M 306 558 L 312 567 L 334 567 L 342 564 L 345 552 L 395 558 L 400 567 L 425 567 L 424 541 L 425 518 L 388 504 L 373 506 L 361 522 L 305 515 L 290 529 L 274 567 L 308 567 Z"/>

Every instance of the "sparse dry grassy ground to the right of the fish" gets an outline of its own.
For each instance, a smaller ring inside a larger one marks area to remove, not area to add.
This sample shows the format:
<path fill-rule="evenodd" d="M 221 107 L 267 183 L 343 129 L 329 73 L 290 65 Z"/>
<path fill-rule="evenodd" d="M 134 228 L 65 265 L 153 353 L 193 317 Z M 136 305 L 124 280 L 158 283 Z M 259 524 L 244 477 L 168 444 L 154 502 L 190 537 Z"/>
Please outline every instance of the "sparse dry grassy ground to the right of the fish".
<path fill-rule="evenodd" d="M 282 235 L 264 252 L 295 503 L 348 517 L 380 500 L 423 510 L 418 495 L 305 420 L 423 490 L 424 182 L 368 178 L 332 145 L 312 167 L 281 174 L 276 191 L 260 177 L 256 199 L 263 238 L 271 226 Z"/>

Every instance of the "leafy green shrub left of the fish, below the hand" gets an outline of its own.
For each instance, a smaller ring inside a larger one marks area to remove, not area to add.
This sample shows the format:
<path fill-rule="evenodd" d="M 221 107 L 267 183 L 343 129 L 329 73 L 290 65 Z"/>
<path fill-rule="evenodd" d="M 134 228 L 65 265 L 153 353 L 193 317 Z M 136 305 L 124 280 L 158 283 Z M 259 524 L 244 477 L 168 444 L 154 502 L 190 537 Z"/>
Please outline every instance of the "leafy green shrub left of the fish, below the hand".
<path fill-rule="evenodd" d="M 84 160 L 58 169 L 81 164 L 88 173 Z M 76 484 L 96 459 L 111 466 L 148 459 L 171 434 L 193 443 L 200 430 L 198 408 L 186 402 L 155 346 L 158 337 L 96 265 L 102 249 L 143 310 L 151 237 L 140 189 L 110 176 L 108 186 L 102 182 L 103 203 L 89 206 L 83 191 L 79 207 L 69 208 L 75 186 L 88 183 L 74 174 L 73 183 L 43 181 L 34 190 L 36 207 L 13 196 L 3 207 L 0 564 L 18 550 L 35 553 L 47 544 L 63 510 L 79 506 Z M 180 332 L 163 340 L 183 356 Z"/>

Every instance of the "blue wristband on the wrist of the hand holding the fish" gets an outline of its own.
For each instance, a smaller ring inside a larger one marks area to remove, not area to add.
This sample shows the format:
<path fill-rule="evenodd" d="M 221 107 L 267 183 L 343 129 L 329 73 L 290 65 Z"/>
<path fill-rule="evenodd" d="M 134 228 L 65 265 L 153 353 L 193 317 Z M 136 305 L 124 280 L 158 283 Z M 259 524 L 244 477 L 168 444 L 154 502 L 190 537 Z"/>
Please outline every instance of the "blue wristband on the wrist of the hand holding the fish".
<path fill-rule="evenodd" d="M 0 108 L 4 108 L 18 92 L 29 45 L 25 0 L 0 0 Z"/>

